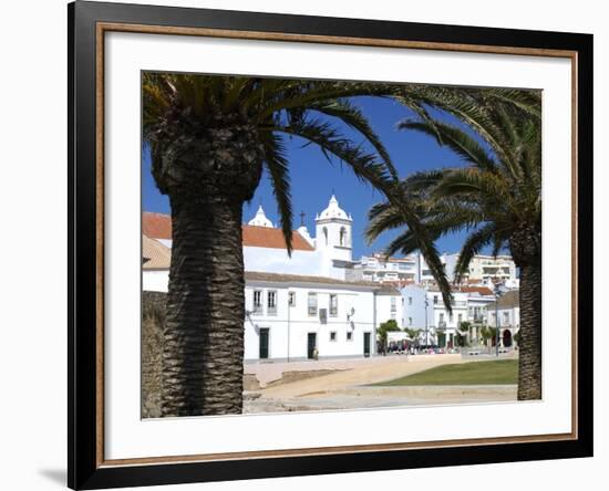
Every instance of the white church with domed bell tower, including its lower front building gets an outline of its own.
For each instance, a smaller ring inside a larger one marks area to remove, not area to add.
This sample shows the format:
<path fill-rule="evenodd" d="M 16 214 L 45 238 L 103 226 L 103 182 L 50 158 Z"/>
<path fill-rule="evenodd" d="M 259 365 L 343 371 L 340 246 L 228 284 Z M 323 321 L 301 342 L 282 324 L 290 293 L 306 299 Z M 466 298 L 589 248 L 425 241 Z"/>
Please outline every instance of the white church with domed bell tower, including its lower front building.
<path fill-rule="evenodd" d="M 293 232 L 291 257 L 261 206 L 242 226 L 246 362 L 372 356 L 378 326 L 390 318 L 400 323 L 396 289 L 350 281 L 352 224 L 332 196 L 316 216 L 314 237 L 303 223 Z M 167 291 L 169 216 L 145 212 L 143 234 L 143 288 Z"/>

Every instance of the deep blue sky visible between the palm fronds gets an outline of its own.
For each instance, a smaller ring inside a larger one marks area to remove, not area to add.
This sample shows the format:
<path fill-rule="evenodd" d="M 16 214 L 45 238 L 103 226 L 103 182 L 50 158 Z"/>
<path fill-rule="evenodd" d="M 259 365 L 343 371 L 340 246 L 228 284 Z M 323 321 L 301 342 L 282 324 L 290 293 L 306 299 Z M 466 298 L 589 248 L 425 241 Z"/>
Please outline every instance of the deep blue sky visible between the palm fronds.
<path fill-rule="evenodd" d="M 401 177 L 417 170 L 463 166 L 461 159 L 453 152 L 440 147 L 434 138 L 417 132 L 396 129 L 399 121 L 414 117 L 414 113 L 404 106 L 394 101 L 378 97 L 354 97 L 351 102 L 360 106 L 369 118 L 373 129 L 388 148 Z M 455 123 L 452 116 L 437 112 L 434 115 Z M 361 140 L 361 137 L 358 137 L 358 134 L 349 128 L 341 126 L 341 130 L 344 130 L 354 140 Z M 297 138 L 286 142 L 290 159 L 295 228 L 300 226 L 299 213 L 303 211 L 306 213 L 304 224 L 309 232 L 314 234 L 316 213 L 328 206 L 333 191 L 340 207 L 353 216 L 354 259 L 382 250 L 395 237 L 395 233 L 388 232 L 374 243 L 367 244 L 363 238 L 367 213 L 372 205 L 382 200 L 381 195 L 374 191 L 370 185 L 362 184 L 357 179 L 348 166 L 341 166 L 338 160 L 330 164 L 318 147 L 313 145 L 303 147 L 304 142 Z M 167 197 L 159 194 L 151 175 L 151 160 L 146 148 L 143 152 L 142 176 L 143 210 L 169 213 Z M 259 205 L 262 205 L 267 217 L 273 223 L 279 222 L 272 188 L 266 174 L 262 176 L 254 199 L 244 206 L 246 222 L 254 217 Z M 460 232 L 441 238 L 437 241 L 440 252 L 457 252 L 464 237 L 465 232 Z"/>

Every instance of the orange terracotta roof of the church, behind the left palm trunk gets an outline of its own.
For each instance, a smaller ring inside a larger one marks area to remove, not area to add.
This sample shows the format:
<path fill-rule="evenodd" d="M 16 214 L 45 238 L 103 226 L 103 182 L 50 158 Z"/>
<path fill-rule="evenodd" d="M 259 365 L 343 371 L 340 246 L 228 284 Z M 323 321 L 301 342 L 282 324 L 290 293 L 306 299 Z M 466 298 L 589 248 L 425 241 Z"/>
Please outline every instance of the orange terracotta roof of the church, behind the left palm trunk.
<path fill-rule="evenodd" d="M 151 239 L 172 239 L 172 217 L 164 213 L 142 213 L 142 233 Z M 286 249 L 281 229 L 242 226 L 244 245 L 256 248 Z M 300 233 L 292 232 L 292 248 L 296 251 L 312 251 L 313 247 Z"/>

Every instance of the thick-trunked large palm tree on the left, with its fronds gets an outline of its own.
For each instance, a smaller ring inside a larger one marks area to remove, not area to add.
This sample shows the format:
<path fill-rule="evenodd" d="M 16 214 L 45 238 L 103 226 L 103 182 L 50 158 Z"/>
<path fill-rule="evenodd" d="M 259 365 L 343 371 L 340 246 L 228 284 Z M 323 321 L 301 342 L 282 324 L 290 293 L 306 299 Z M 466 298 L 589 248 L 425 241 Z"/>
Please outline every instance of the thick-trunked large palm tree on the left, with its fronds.
<path fill-rule="evenodd" d="M 287 137 L 319 146 L 374 187 L 392 181 L 386 150 L 349 100 L 386 92 L 360 83 L 144 74 L 144 139 L 155 182 L 169 198 L 173 227 L 164 416 L 241 412 L 242 205 L 266 169 L 290 253 Z M 351 142 L 334 122 L 362 142 Z"/>

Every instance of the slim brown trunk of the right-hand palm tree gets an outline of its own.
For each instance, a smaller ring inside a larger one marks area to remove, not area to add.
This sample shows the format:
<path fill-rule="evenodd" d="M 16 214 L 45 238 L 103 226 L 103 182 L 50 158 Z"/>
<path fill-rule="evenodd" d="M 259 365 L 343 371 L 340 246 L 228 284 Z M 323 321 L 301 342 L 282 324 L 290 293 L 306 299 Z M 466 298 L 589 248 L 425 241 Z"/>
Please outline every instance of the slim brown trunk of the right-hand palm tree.
<path fill-rule="evenodd" d="M 520 268 L 518 400 L 541 398 L 541 263 Z"/>

